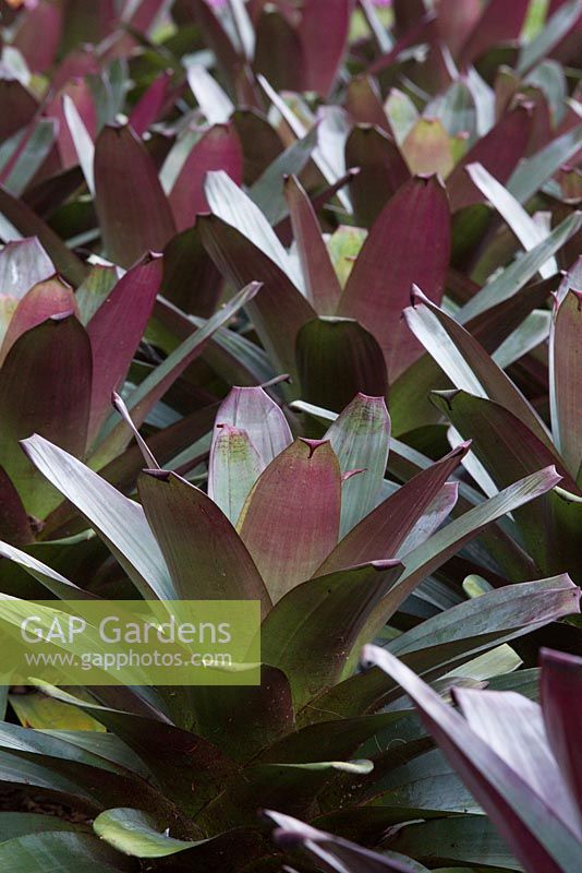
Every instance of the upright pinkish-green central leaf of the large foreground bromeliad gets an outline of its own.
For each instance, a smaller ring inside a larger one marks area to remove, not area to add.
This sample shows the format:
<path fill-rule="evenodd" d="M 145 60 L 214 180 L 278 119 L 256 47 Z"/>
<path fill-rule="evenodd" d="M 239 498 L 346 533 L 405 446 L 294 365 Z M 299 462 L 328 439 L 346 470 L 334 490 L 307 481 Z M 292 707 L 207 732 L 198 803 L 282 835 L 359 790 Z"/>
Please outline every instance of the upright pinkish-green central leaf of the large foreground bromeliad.
<path fill-rule="evenodd" d="M 340 504 L 340 466 L 328 441 L 295 440 L 262 474 L 238 527 L 274 602 L 334 549 Z"/>

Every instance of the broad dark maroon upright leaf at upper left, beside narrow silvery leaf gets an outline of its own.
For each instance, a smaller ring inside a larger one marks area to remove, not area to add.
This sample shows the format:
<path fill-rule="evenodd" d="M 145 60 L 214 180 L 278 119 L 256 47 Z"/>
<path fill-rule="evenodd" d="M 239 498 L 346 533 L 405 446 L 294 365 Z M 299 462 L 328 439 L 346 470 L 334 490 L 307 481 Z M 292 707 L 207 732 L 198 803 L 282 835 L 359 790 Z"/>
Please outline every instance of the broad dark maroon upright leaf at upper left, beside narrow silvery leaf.
<path fill-rule="evenodd" d="M 153 159 L 129 125 L 105 127 L 95 146 L 95 206 L 108 256 L 129 267 L 175 234 Z"/>

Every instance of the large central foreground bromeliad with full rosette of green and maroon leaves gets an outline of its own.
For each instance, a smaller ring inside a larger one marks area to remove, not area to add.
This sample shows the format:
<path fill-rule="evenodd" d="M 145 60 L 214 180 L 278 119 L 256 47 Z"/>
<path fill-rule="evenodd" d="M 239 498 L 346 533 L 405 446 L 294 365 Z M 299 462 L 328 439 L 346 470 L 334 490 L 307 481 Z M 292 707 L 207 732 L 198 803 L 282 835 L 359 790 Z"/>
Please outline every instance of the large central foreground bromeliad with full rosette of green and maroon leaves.
<path fill-rule="evenodd" d="M 447 786 L 441 800 L 433 787 L 414 791 L 417 777 L 411 781 L 403 765 L 429 741 L 393 683 L 379 671 L 355 671 L 357 654 L 451 554 L 559 476 L 539 470 L 441 527 L 469 444 L 398 488 L 384 479 L 389 432 L 384 399 L 357 395 L 325 439 L 293 440 L 263 390 L 234 388 L 217 415 L 208 493 L 150 468 L 138 479 L 142 505 L 47 440 L 24 441 L 28 458 L 87 518 L 138 595 L 260 601 L 263 682 L 102 687 L 90 697 L 40 684 L 109 733 L 47 734 L 7 723 L 2 778 L 87 810 L 111 847 L 167 858 L 172 870 L 259 869 L 271 851 L 256 824 L 259 805 L 344 829 L 349 820 L 368 841 L 388 824 L 456 813 L 460 804 L 478 815 L 452 772 L 438 776 Z M 4 543 L 1 553 L 57 598 L 95 596 L 23 551 Z M 504 587 L 434 615 L 388 648 L 444 694 L 454 681 L 511 685 L 519 658 L 507 641 L 575 612 L 578 599 L 567 575 Z M 397 738 L 393 755 L 387 750 Z M 15 755 L 28 762 L 21 776 Z M 7 851 L 16 851 L 9 842 Z M 63 836 L 50 825 L 19 845 L 52 847 L 65 865 L 84 845 L 89 856 L 93 846 L 95 858 L 102 852 L 78 829 Z M 219 861 L 225 853 L 228 863 Z"/>

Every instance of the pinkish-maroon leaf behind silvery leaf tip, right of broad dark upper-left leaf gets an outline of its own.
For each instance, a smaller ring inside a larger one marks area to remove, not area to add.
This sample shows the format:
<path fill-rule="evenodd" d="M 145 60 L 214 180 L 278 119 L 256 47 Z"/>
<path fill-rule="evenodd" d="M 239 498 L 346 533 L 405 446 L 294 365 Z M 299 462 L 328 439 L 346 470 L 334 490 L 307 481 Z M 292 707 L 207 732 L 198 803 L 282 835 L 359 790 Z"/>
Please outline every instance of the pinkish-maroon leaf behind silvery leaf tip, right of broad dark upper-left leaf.
<path fill-rule="evenodd" d="M 178 230 L 191 227 L 198 213 L 208 212 L 204 182 L 210 170 L 225 170 L 237 184 L 242 183 L 242 151 L 232 124 L 215 124 L 206 131 L 178 174 L 169 194 Z"/>

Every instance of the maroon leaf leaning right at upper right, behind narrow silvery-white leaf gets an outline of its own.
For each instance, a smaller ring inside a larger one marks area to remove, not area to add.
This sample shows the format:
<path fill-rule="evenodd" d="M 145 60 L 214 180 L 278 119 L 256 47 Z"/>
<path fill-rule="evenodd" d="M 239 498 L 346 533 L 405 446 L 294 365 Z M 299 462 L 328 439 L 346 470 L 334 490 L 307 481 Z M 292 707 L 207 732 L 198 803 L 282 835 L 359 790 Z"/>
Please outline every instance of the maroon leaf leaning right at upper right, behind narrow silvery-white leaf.
<path fill-rule="evenodd" d="M 531 108 L 520 105 L 505 115 L 486 136 L 475 143 L 447 179 L 453 212 L 472 203 L 481 203 L 485 199 L 473 184 L 465 167 L 470 164 L 482 164 L 497 181 L 505 184 L 525 154 L 531 131 Z"/>

